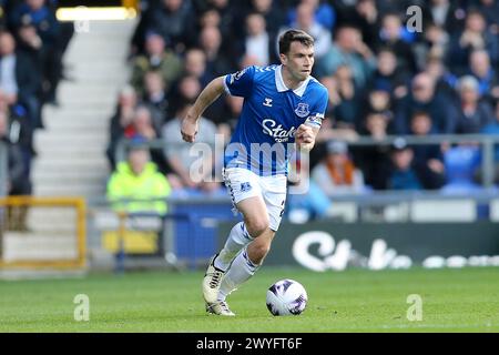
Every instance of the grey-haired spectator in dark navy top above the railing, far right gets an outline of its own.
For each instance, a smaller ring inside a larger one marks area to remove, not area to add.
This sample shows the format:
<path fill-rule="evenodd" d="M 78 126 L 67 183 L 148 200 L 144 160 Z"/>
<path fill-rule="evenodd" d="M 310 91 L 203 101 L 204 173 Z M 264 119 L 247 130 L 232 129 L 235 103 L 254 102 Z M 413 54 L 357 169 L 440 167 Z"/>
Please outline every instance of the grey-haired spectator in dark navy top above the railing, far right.
<path fill-rule="evenodd" d="M 493 111 L 487 101 L 480 100 L 478 81 L 466 75 L 459 79 L 459 101 L 449 110 L 450 132 L 478 133 L 493 120 Z"/>

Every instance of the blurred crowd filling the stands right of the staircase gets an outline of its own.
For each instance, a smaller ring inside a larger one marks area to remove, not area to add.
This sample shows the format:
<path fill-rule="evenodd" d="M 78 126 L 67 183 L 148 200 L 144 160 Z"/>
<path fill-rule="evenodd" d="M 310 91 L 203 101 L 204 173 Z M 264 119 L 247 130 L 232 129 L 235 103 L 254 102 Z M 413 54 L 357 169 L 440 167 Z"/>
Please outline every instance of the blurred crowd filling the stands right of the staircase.
<path fill-rule="evenodd" d="M 420 32 L 406 26 L 410 6 L 422 9 Z M 141 13 L 130 47 L 131 80 L 111 119 L 112 169 L 122 139 L 162 139 L 164 149 L 152 148 L 149 159 L 173 193 L 218 193 L 220 184 L 192 181 L 180 119 L 212 79 L 278 63 L 278 34 L 298 28 L 315 38 L 313 74 L 329 91 L 309 162 L 317 196 L 479 189 L 476 143 L 338 141 L 499 133 L 498 1 L 143 0 Z M 198 141 L 210 142 L 214 133 L 228 138 L 241 108 L 241 98 L 217 100 L 203 114 Z"/>

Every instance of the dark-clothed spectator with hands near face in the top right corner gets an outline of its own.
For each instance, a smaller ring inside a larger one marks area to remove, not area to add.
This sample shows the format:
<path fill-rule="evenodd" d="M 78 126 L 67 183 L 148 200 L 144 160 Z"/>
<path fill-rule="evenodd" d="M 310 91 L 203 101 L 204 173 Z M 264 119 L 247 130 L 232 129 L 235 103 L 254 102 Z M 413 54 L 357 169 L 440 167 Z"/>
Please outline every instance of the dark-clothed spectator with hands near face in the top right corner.
<path fill-rule="evenodd" d="M 483 14 L 476 9 L 469 9 L 464 30 L 450 39 L 447 63 L 451 71 L 457 74 L 465 73 L 469 54 L 473 50 L 486 50 L 492 64 L 499 60 L 497 37 L 488 31 Z"/>

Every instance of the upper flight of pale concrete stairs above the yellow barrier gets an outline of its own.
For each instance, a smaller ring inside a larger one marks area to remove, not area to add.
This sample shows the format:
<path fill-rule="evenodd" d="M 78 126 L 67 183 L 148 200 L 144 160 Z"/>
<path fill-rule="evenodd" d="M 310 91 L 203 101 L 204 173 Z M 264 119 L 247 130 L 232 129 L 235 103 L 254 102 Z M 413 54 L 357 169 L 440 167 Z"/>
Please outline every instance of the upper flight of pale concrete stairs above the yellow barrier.
<path fill-rule="evenodd" d="M 45 130 L 34 136 L 34 195 L 84 196 L 105 192 L 109 119 L 129 79 L 125 62 L 135 21 L 94 21 L 75 33 L 64 63 L 74 81 L 58 88 L 60 106 L 45 105 Z"/>

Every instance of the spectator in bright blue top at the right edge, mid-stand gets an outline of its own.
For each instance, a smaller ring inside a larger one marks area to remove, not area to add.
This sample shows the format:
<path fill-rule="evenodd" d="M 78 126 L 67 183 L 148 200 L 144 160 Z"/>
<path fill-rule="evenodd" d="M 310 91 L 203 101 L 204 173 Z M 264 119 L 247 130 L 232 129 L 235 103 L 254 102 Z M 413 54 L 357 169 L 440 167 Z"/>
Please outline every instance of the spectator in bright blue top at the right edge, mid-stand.
<path fill-rule="evenodd" d="M 490 103 L 499 99 L 499 78 L 490 64 L 490 57 L 486 50 L 472 51 L 469 57 L 469 74 L 478 80 L 478 92 Z"/>

